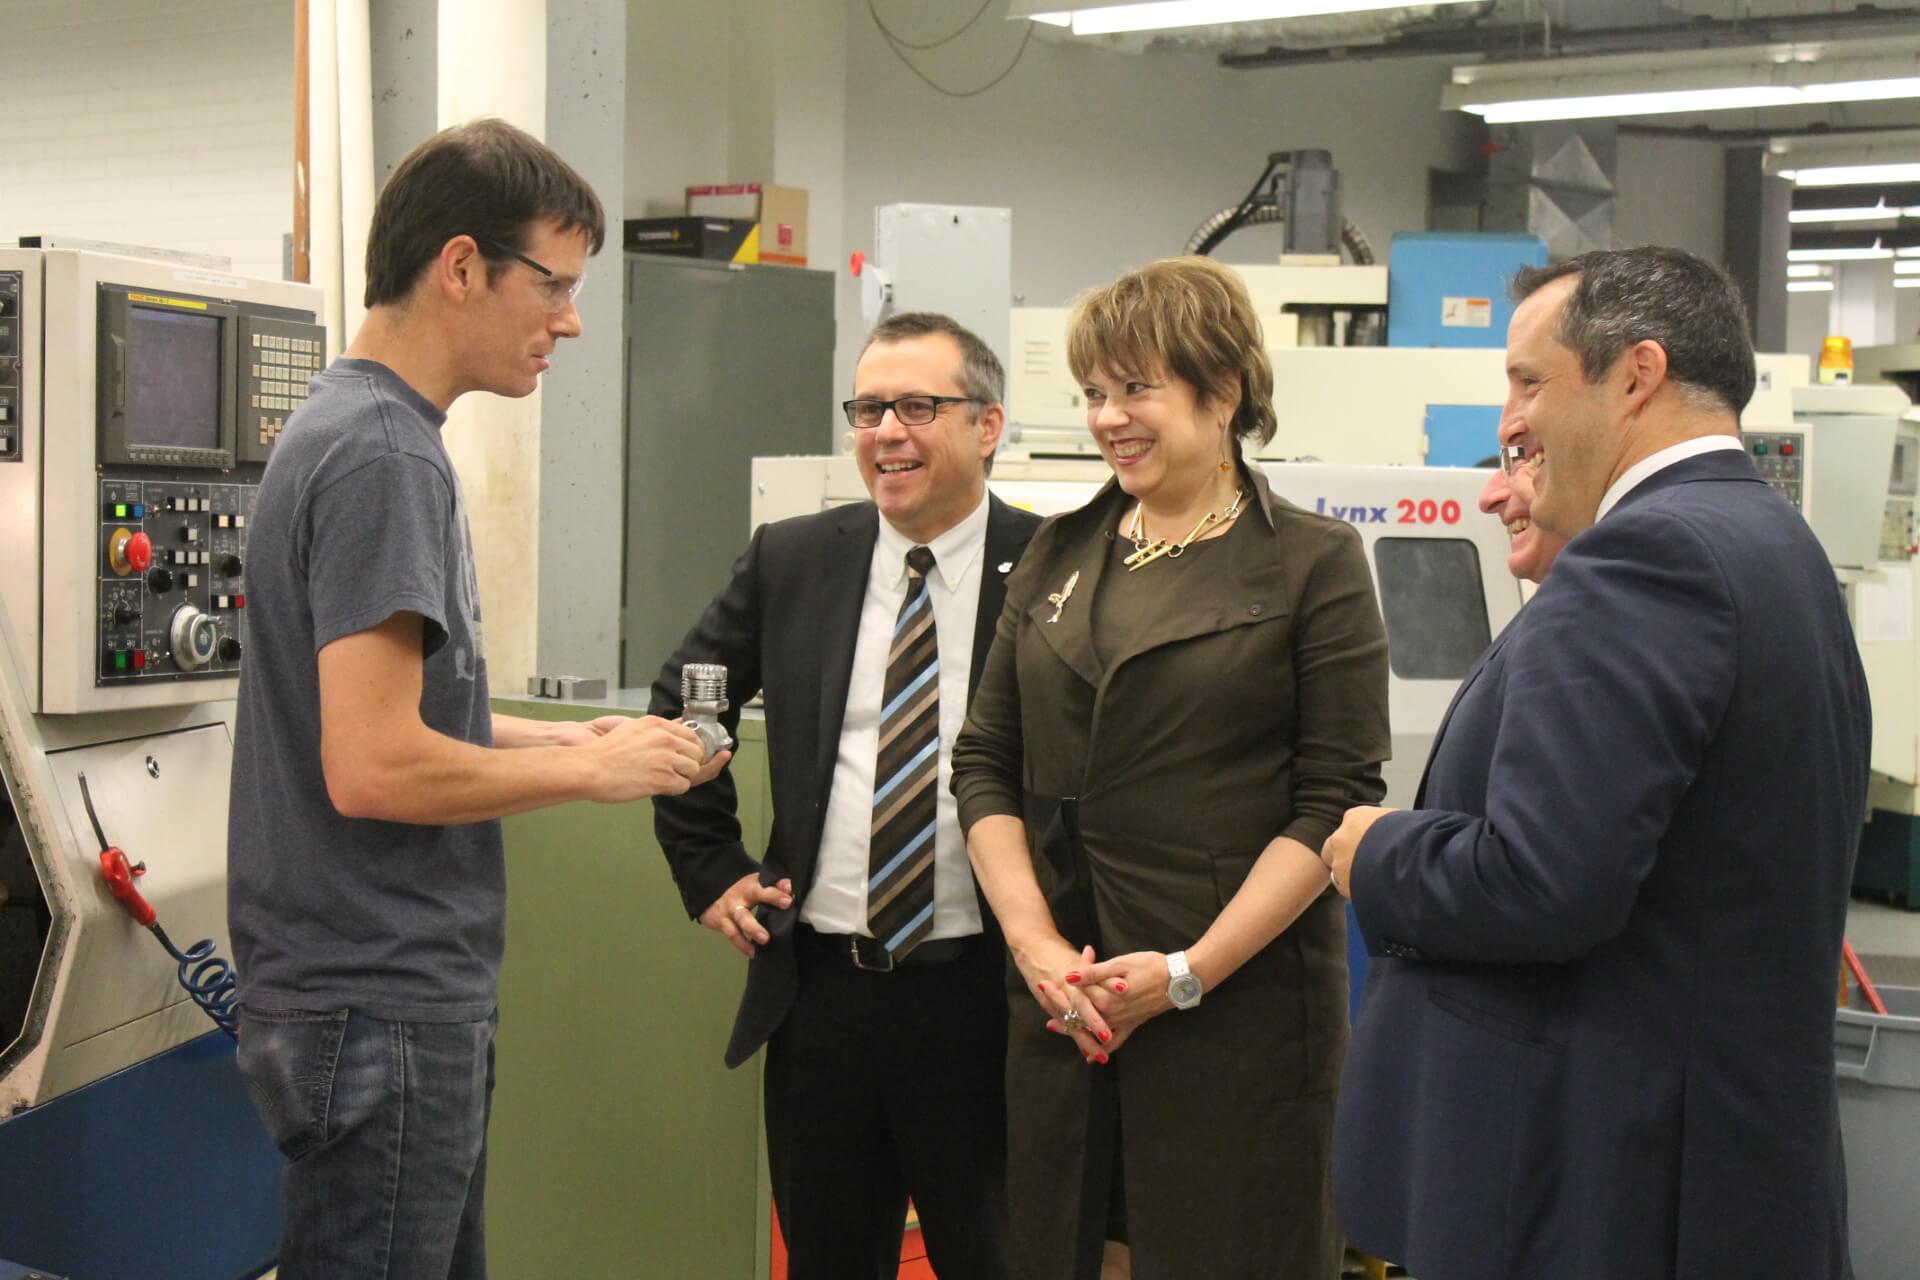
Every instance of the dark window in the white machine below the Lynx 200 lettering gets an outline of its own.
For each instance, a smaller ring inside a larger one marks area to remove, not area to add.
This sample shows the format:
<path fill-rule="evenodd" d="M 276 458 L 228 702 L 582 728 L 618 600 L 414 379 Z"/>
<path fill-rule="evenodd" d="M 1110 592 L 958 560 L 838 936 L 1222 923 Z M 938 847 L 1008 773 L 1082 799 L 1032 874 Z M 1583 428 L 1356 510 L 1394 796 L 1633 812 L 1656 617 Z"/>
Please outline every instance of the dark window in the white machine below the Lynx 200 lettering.
<path fill-rule="evenodd" d="M 1480 551 L 1463 537 L 1382 537 L 1373 545 L 1386 660 L 1400 679 L 1461 679 L 1492 643 Z"/>

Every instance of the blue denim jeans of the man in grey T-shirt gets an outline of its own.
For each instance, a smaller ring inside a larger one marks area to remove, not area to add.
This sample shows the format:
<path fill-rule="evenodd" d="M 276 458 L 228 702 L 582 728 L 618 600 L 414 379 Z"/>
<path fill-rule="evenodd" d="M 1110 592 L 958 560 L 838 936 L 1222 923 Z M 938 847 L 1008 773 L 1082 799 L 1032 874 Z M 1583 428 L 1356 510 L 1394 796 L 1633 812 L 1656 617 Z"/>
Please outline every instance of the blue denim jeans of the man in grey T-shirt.
<path fill-rule="evenodd" d="M 240 1009 L 280 1171 L 280 1280 L 486 1280 L 493 1023 Z"/>

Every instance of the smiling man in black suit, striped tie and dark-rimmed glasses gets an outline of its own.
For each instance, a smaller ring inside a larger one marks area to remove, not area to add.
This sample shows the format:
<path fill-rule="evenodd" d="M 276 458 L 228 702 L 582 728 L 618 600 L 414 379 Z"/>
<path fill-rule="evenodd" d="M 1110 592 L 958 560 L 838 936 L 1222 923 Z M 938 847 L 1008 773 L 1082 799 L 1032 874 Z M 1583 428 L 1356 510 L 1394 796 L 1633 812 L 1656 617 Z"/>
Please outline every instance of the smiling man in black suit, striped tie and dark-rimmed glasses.
<path fill-rule="evenodd" d="M 791 1280 L 891 1280 L 908 1196 L 941 1276 L 1006 1276 L 1004 950 L 948 752 L 1037 516 L 987 493 L 1000 361 L 954 320 L 868 336 L 847 420 L 872 503 L 762 526 L 660 670 L 766 697 L 774 827 L 741 844 L 732 773 L 655 804 L 687 913 L 751 958 L 726 1063 L 762 1044 Z"/>

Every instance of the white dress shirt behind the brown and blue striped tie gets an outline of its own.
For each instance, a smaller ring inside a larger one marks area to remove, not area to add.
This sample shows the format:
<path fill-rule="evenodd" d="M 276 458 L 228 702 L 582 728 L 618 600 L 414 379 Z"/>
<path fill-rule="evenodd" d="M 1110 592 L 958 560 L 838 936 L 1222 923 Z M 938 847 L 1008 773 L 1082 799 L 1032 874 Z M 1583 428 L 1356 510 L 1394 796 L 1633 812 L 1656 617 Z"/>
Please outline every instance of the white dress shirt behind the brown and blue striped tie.
<path fill-rule="evenodd" d="M 866 570 L 866 603 L 860 606 L 860 639 L 852 651 L 847 685 L 847 718 L 841 722 L 839 760 L 828 793 L 820 831 L 814 887 L 801 902 L 801 919 L 820 933 L 866 933 L 868 846 L 874 835 L 874 764 L 879 752 L 879 700 L 887 683 L 887 649 L 893 624 L 906 601 L 906 553 L 918 543 L 879 520 L 879 541 Z M 933 831 L 933 931 L 927 938 L 979 933 L 979 898 L 973 867 L 960 835 L 960 806 L 952 796 L 952 748 L 966 723 L 968 670 L 973 666 L 973 620 L 979 616 L 979 576 L 989 570 L 987 499 L 927 549 L 933 572 L 933 629 L 941 649 L 941 770 Z"/>

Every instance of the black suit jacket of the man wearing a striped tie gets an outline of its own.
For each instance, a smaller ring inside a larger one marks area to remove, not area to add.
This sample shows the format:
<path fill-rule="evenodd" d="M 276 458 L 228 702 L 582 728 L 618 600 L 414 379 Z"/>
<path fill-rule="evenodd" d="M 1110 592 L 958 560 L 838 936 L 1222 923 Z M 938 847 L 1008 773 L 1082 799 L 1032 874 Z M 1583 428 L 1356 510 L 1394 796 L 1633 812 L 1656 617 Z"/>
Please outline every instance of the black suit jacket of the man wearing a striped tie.
<path fill-rule="evenodd" d="M 968 670 L 970 697 L 979 683 L 1006 599 L 1006 574 L 1000 566 L 1020 558 L 1039 524 L 1035 514 L 1016 510 L 996 497 L 987 499 L 979 614 L 973 624 L 973 664 Z M 728 733 L 735 733 L 739 708 L 751 697 L 766 697 L 774 825 L 760 862 L 741 842 L 732 770 L 684 796 L 660 796 L 653 802 L 653 829 L 666 850 L 689 917 L 699 917 L 753 871 L 766 885 L 793 881 L 789 910 L 758 910 L 772 942 L 758 948 L 747 967 L 747 994 L 726 1050 L 728 1067 L 737 1067 L 766 1044 L 799 990 L 793 925 L 812 889 L 820 858 L 820 829 L 833 785 L 852 651 L 877 537 L 879 512 L 872 503 L 762 524 L 733 564 L 732 581 L 653 681 L 649 712 L 678 718 L 680 668 L 685 662 L 724 662 Z M 981 919 L 996 938 L 998 927 L 985 900 Z"/>

